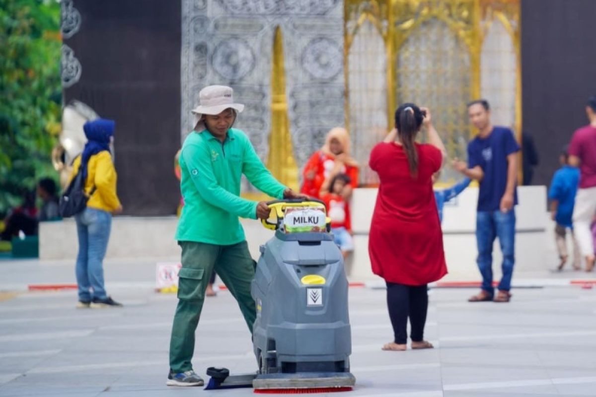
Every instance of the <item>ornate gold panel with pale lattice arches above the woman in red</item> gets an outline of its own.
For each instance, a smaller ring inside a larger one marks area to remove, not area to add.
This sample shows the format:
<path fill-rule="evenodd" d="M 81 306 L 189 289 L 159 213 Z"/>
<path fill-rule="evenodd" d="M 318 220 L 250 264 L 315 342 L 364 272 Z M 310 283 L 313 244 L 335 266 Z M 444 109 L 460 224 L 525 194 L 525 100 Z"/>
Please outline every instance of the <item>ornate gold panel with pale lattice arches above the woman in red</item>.
<path fill-rule="evenodd" d="M 383 37 L 384 59 L 389 60 L 384 72 L 388 126 L 394 123 L 393 112 L 399 102 L 427 105 L 433 110 L 449 156 L 465 157 L 472 134 L 465 104 L 482 94 L 495 105 L 493 123 L 513 124 L 520 133 L 519 0 L 344 0 L 346 114 L 350 123 L 365 119 L 353 113 L 367 111 L 354 104 L 382 95 L 378 88 L 352 90 L 352 73 L 362 74 L 361 67 L 353 65 L 352 54 L 358 52 L 356 59 L 378 57 L 378 46 L 367 46 L 364 53 L 352 48 L 365 21 Z M 504 58 L 496 62 L 499 55 Z M 366 133 L 361 128 L 349 127 L 355 143 L 368 139 L 359 136 Z M 357 158 L 368 162 L 364 154 Z M 455 174 L 445 170 L 442 179 L 452 177 Z M 376 181 L 374 176 L 364 176 L 362 182 L 374 185 Z"/>

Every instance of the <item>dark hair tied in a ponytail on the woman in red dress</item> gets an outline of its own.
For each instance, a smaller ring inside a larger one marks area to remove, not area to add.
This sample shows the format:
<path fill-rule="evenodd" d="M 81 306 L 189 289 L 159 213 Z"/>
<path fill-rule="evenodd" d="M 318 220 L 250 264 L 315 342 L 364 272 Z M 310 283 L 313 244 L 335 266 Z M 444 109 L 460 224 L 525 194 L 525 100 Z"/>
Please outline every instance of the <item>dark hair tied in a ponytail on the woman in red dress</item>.
<path fill-rule="evenodd" d="M 415 140 L 422 120 L 423 113 L 414 104 L 403 104 L 395 112 L 395 126 L 398 129 L 399 140 L 408 158 L 408 166 L 412 178 L 418 177 L 418 151 Z"/>

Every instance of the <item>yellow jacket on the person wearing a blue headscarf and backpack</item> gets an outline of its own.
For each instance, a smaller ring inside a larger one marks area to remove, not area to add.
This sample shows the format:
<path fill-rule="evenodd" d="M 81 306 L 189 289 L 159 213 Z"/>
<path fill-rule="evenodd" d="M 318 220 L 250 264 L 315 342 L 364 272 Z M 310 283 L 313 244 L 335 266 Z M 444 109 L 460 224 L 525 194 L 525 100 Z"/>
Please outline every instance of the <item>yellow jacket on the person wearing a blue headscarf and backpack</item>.
<path fill-rule="evenodd" d="M 75 177 L 80 167 L 80 156 L 73 161 L 69 183 Z M 85 192 L 89 194 L 95 186 L 95 192 L 89 198 L 87 207 L 113 212 L 120 207 L 120 200 L 116 195 L 116 168 L 111 160 L 110 152 L 103 151 L 89 157 L 87 165 L 87 180 Z"/>

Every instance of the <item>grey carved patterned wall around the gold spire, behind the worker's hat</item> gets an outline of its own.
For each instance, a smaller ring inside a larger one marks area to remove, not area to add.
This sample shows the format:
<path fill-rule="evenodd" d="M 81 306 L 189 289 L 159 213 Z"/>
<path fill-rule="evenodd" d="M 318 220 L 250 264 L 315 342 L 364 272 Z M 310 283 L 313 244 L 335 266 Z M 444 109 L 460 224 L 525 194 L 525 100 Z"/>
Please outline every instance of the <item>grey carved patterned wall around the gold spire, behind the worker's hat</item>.
<path fill-rule="evenodd" d="M 260 158 L 268 155 L 275 27 L 284 37 L 288 114 L 301 167 L 344 124 L 342 0 L 182 0 L 181 137 L 191 131 L 198 92 L 234 88 L 238 118 Z"/>

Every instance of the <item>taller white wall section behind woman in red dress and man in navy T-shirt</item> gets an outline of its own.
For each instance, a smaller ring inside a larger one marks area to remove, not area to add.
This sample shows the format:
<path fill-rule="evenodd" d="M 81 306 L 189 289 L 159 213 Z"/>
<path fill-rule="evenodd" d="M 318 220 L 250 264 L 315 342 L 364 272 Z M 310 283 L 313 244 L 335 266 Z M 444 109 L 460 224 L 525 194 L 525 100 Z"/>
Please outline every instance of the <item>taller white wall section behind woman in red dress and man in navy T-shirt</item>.
<path fill-rule="evenodd" d="M 551 222 L 547 212 L 547 192 L 544 186 L 518 188 L 516 207 L 516 271 L 541 271 L 554 252 Z M 352 227 L 355 232 L 354 265 L 351 276 L 374 280 L 368 258 L 368 231 L 374 211 L 377 189 L 356 189 L 352 200 Z M 476 268 L 476 202 L 478 188 L 468 187 L 443 211 L 443 242 L 449 270 L 446 280 L 477 280 Z M 495 278 L 500 276 L 502 255 L 495 241 L 493 251 Z"/>

